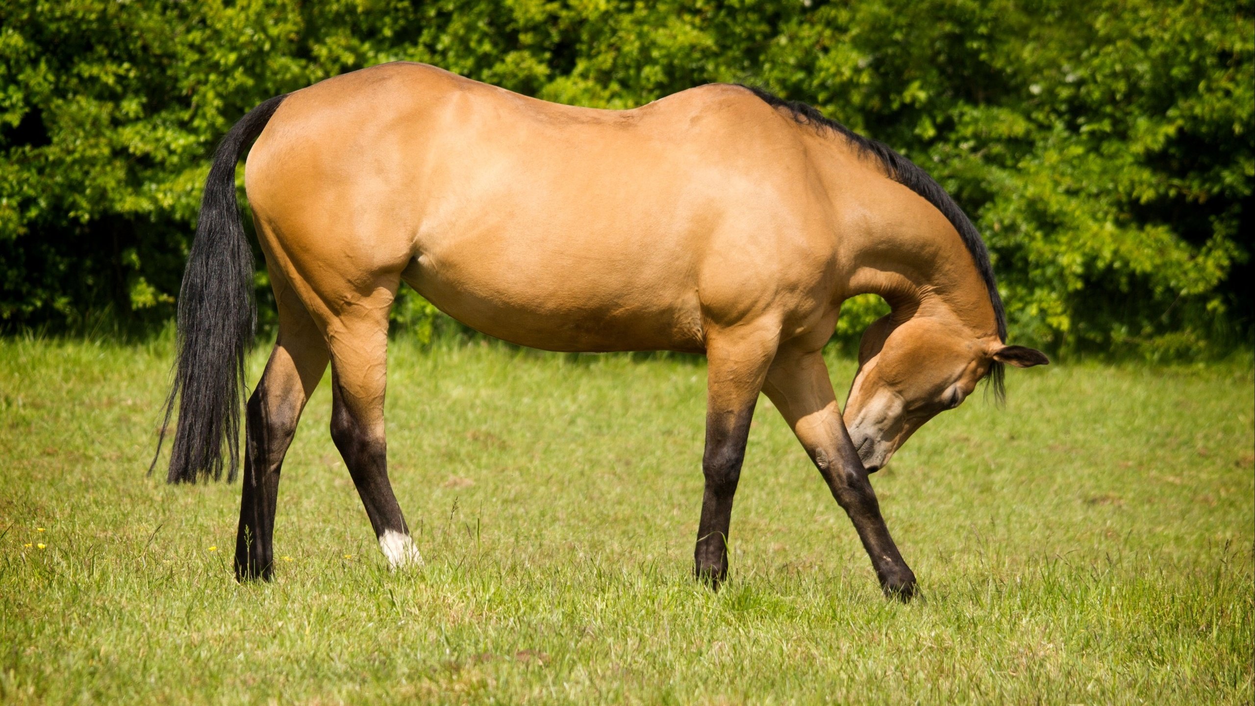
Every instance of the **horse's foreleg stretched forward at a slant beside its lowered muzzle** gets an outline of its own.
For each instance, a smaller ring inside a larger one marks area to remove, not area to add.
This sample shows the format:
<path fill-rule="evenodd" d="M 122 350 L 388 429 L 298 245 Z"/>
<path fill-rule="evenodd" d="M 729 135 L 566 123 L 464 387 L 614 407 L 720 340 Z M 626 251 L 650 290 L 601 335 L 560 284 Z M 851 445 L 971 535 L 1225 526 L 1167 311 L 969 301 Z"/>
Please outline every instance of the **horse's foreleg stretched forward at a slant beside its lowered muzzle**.
<path fill-rule="evenodd" d="M 823 357 L 817 350 L 782 347 L 763 392 L 793 428 L 837 504 L 850 516 L 886 595 L 909 600 L 915 594 L 915 574 L 885 526 L 867 470 L 841 418 Z"/>

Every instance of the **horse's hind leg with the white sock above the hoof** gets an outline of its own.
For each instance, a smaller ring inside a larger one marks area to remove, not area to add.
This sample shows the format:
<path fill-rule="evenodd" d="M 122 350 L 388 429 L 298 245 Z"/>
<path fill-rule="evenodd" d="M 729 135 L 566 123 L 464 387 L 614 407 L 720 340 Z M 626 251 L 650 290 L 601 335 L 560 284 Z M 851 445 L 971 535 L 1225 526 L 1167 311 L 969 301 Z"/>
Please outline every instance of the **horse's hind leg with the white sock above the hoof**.
<path fill-rule="evenodd" d="M 371 300 L 353 307 L 330 327 L 331 438 L 358 487 L 379 548 L 393 567 L 400 567 L 417 563 L 419 554 L 388 480 L 384 387 L 390 301 L 392 293 L 376 290 Z"/>

